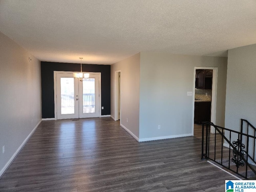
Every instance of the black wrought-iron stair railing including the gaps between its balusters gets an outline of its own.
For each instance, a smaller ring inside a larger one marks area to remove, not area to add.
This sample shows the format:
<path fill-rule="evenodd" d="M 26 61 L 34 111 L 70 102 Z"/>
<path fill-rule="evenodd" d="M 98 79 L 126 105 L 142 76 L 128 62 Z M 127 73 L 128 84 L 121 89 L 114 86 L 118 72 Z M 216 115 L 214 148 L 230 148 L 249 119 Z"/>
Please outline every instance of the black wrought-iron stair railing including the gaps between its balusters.
<path fill-rule="evenodd" d="M 245 120 L 245 122 L 247 121 Z M 251 126 L 250 123 L 248 125 Z M 211 127 L 214 128 L 216 134 L 210 133 Z M 218 133 L 220 136 L 217 137 Z M 248 133 L 244 133 L 242 128 L 241 132 L 238 132 L 216 126 L 212 122 L 203 122 L 201 159 L 210 159 L 246 179 L 252 177 L 255 179 L 256 170 L 252 164 L 255 163 L 256 136 L 255 132 L 254 135 Z M 246 144 L 243 144 L 242 141 L 246 141 Z M 254 143 L 253 148 L 251 143 Z M 248 162 L 248 158 L 251 163 Z"/>

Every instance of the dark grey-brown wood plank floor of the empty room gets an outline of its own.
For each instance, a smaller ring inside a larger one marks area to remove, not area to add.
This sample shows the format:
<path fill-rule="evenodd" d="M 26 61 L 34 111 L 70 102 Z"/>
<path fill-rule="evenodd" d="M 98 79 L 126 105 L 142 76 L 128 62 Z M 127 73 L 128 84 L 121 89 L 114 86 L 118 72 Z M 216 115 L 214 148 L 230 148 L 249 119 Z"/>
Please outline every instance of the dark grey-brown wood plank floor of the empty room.
<path fill-rule="evenodd" d="M 200 160 L 200 136 L 137 142 L 111 118 L 43 121 L 1 192 L 220 192 L 234 177 Z"/>

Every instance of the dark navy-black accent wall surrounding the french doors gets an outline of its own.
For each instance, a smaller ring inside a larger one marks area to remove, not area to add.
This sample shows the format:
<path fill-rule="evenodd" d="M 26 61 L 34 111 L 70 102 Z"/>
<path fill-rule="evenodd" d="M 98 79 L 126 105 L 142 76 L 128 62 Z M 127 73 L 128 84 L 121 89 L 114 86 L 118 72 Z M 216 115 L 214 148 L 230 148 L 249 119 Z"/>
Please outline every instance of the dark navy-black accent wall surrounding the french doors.
<path fill-rule="evenodd" d="M 84 72 L 101 72 L 101 115 L 110 115 L 110 65 L 82 64 Z M 41 62 L 42 118 L 54 118 L 54 71 L 80 71 L 80 64 Z"/>

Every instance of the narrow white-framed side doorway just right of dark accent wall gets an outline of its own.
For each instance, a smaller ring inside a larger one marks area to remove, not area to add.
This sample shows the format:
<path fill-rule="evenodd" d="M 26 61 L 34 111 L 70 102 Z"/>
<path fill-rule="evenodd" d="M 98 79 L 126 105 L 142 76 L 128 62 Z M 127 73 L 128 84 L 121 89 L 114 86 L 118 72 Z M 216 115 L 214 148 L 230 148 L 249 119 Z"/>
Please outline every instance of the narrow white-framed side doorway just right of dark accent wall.
<path fill-rule="evenodd" d="M 118 86 L 118 73 L 120 72 L 120 87 Z M 115 115 L 115 118 L 114 120 L 117 121 L 118 120 L 118 101 L 120 99 L 120 122 L 121 122 L 121 108 L 122 108 L 122 88 L 121 88 L 121 70 L 117 70 L 115 71 L 115 97 L 114 97 L 114 115 Z M 119 89 L 120 89 L 120 98 L 118 96 L 118 92 L 119 92 Z"/>

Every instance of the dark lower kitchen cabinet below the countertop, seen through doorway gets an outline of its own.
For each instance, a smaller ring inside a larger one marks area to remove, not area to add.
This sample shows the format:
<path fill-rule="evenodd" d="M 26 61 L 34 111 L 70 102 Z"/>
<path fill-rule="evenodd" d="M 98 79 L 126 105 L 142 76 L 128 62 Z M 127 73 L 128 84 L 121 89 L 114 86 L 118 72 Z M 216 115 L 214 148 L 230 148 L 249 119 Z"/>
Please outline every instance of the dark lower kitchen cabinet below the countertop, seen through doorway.
<path fill-rule="evenodd" d="M 194 122 L 202 124 L 211 120 L 211 102 L 195 102 Z"/>

